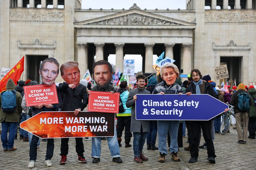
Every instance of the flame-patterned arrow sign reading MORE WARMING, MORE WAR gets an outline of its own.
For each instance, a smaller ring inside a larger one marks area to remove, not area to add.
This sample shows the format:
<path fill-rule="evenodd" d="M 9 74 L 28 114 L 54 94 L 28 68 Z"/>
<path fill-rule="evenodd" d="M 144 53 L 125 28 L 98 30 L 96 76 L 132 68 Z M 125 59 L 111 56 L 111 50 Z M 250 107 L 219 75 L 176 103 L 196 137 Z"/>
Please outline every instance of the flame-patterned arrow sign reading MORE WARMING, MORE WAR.
<path fill-rule="evenodd" d="M 114 136 L 115 114 L 79 112 L 40 112 L 20 127 L 39 138 Z"/>

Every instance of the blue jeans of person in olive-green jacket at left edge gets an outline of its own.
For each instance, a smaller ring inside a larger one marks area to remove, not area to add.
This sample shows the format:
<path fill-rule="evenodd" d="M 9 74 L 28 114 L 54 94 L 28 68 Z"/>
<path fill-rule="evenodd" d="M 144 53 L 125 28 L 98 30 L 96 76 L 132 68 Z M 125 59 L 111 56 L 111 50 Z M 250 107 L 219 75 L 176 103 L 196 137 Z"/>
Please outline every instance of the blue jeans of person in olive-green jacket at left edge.
<path fill-rule="evenodd" d="M 7 138 L 7 131 L 9 129 L 9 139 Z M 17 129 L 17 122 L 2 122 L 1 141 L 4 149 L 12 149 L 14 145 L 15 129 Z"/>

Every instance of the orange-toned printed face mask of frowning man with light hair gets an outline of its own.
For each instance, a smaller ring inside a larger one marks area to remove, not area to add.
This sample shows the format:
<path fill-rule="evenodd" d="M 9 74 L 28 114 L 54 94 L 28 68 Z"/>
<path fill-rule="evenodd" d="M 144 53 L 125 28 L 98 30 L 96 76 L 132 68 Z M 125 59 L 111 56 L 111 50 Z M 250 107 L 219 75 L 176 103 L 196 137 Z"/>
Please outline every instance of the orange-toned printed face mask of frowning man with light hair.
<path fill-rule="evenodd" d="M 63 80 L 68 84 L 74 84 L 76 87 L 80 83 L 80 71 L 75 66 L 66 67 L 63 69 L 64 74 L 61 76 Z"/>

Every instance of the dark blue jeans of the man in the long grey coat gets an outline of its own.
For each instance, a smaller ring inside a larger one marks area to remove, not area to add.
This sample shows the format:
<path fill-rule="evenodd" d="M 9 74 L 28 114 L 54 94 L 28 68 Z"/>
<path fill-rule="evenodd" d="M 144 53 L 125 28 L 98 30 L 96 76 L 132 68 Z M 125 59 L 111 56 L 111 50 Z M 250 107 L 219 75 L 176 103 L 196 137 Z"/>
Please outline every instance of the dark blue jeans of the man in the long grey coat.
<path fill-rule="evenodd" d="M 133 132 L 133 153 L 134 157 L 140 157 L 145 140 L 147 137 L 147 132 L 143 132 L 142 128 L 140 132 Z"/>

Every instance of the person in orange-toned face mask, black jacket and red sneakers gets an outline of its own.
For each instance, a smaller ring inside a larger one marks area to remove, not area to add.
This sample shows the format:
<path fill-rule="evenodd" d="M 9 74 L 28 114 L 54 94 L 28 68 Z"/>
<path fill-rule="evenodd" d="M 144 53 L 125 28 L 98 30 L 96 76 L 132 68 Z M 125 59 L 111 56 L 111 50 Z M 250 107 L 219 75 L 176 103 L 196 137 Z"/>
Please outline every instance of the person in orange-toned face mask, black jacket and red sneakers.
<path fill-rule="evenodd" d="M 61 77 L 65 81 L 59 85 L 59 90 L 64 93 L 63 105 L 61 111 L 74 111 L 77 116 L 80 111 L 85 109 L 88 104 L 87 89 L 80 84 L 80 70 L 78 62 L 69 61 L 61 65 Z M 76 153 L 78 155 L 78 162 L 86 163 L 83 153 L 85 152 L 83 146 L 83 138 L 76 139 Z M 66 164 L 68 154 L 69 138 L 61 138 L 61 162 L 60 165 Z"/>

